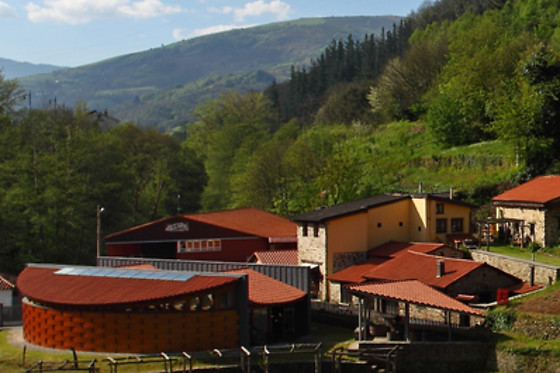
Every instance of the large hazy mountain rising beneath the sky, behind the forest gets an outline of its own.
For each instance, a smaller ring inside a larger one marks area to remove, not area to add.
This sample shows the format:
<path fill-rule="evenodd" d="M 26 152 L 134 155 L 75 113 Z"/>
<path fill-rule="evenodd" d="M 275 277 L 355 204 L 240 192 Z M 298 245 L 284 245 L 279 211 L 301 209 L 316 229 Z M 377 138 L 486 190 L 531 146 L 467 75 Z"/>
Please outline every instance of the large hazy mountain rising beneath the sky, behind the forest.
<path fill-rule="evenodd" d="M 88 107 L 110 110 L 125 121 L 140 125 L 158 125 L 157 118 L 143 121 L 137 106 L 146 95 L 180 89 L 211 76 L 247 76 L 258 71 L 269 75 L 268 80 L 251 84 L 231 84 L 224 89 L 263 89 L 272 81 L 289 78 L 290 66 L 305 66 L 317 58 L 332 41 L 348 35 L 362 38 L 366 34 L 380 35 L 400 21 L 397 16 L 356 16 L 302 18 L 245 29 L 235 29 L 163 45 L 146 51 L 116 56 L 92 64 L 54 71 L 21 79 L 28 91 L 35 92 L 36 105 L 56 102 L 73 106 L 84 101 Z M 235 80 L 235 79 L 234 79 Z M 244 79 L 238 78 L 243 82 Z M 223 91 L 224 89 L 211 89 Z M 183 103 L 190 113 L 201 100 L 189 95 Z M 208 92 L 200 94 L 208 97 Z M 135 104 L 136 103 L 136 104 Z M 154 103 L 161 104 L 161 103 Z M 145 103 L 144 103 L 145 105 Z M 175 110 L 168 107 L 167 110 Z M 182 114 L 183 115 L 183 114 Z M 192 120 L 192 114 L 166 123 L 175 127 Z"/>

